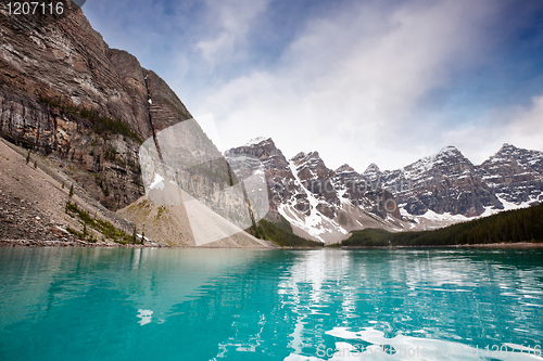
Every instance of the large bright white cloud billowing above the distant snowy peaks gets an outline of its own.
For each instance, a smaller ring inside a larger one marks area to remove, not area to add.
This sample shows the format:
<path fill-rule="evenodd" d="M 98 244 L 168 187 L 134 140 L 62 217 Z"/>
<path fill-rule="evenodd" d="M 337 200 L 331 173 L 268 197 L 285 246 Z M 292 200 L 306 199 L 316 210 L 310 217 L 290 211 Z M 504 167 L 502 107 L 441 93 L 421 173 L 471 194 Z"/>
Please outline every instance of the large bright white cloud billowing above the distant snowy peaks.
<path fill-rule="evenodd" d="M 483 49 L 488 2 L 365 5 L 311 22 L 274 70 L 230 80 L 194 103 L 226 146 L 272 137 L 288 156 L 319 151 L 327 165 L 400 167 L 444 144 L 451 119 L 420 111 Z"/>

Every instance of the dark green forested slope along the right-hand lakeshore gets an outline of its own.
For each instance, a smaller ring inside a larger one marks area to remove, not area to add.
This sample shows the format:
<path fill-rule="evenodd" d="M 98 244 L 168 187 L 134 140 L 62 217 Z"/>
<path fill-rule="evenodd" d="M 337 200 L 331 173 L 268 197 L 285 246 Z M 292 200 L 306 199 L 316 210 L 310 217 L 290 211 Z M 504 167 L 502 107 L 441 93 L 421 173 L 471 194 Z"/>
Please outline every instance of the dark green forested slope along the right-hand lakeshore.
<path fill-rule="evenodd" d="M 342 246 L 430 246 L 457 244 L 543 242 L 543 204 L 420 232 L 353 231 Z"/>

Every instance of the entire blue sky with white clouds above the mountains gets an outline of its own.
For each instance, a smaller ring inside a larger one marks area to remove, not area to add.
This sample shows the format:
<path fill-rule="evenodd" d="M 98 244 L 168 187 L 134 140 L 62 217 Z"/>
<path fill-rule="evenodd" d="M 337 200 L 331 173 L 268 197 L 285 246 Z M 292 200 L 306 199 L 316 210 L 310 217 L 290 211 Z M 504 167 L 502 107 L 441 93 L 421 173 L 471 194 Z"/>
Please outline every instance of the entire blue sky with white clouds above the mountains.
<path fill-rule="evenodd" d="M 330 168 L 455 145 L 543 151 L 542 0 L 88 0 L 112 48 L 157 73 L 222 145 L 270 137 Z"/>

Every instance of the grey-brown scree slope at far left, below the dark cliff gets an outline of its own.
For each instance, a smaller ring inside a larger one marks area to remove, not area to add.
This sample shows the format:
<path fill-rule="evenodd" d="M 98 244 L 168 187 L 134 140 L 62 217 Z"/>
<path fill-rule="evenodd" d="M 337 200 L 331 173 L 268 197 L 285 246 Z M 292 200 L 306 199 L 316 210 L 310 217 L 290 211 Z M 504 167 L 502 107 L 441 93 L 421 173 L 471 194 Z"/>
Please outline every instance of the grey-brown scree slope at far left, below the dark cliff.
<path fill-rule="evenodd" d="M 66 163 L 36 154 L 31 154 L 27 163 L 27 151 L 0 139 L 0 240 L 77 242 L 80 236 L 73 233 L 84 233 L 85 222 L 66 211 L 68 202 L 90 215 L 89 221 L 109 223 L 127 236 L 132 234 L 134 224 L 103 207 L 85 190 L 75 186 L 70 196 L 75 181 L 64 172 Z M 99 244 L 125 242 L 90 225 L 87 233 L 87 241 Z"/>

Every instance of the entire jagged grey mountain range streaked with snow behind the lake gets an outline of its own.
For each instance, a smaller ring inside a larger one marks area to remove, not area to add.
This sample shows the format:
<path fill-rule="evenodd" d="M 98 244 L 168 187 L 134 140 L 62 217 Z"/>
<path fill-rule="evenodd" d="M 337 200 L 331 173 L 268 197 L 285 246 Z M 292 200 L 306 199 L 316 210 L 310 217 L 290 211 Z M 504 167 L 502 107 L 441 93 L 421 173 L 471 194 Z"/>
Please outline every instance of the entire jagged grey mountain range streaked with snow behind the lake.
<path fill-rule="evenodd" d="M 288 160 L 272 139 L 227 152 L 240 153 L 265 165 L 268 218 L 280 214 L 301 235 L 325 243 L 356 229 L 438 228 L 543 202 L 543 152 L 508 144 L 479 166 L 447 146 L 401 169 L 371 164 L 363 173 L 346 164 L 329 169 L 317 152 Z"/>

